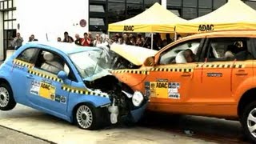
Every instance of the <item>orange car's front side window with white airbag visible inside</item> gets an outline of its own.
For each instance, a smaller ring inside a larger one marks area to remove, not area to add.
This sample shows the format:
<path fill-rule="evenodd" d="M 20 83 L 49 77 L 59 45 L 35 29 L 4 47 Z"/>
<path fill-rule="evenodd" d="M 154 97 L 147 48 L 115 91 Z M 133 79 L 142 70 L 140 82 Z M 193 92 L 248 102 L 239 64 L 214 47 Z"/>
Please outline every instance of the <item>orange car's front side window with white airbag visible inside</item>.
<path fill-rule="evenodd" d="M 182 42 L 181 44 L 178 44 L 178 46 L 170 47 L 170 49 L 162 52 L 158 64 L 168 65 L 174 63 L 194 62 L 200 42 L 201 39 L 196 39 L 189 42 Z M 187 52 L 190 54 L 187 54 Z"/>

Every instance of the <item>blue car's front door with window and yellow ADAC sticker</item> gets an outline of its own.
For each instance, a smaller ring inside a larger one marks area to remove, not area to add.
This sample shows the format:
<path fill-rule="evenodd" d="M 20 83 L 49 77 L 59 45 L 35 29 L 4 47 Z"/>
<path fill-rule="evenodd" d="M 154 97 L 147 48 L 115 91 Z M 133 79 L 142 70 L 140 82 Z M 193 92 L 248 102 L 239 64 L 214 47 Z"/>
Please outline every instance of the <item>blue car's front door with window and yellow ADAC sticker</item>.
<path fill-rule="evenodd" d="M 69 66 L 61 55 L 49 50 L 40 50 L 34 68 L 28 71 L 26 97 L 30 104 L 38 109 L 66 115 L 69 91 L 62 90 L 62 86 L 70 86 L 71 80 L 63 82 L 58 78 L 57 74 L 61 68 L 57 70 L 55 66 L 62 66 L 66 74 L 70 73 Z"/>

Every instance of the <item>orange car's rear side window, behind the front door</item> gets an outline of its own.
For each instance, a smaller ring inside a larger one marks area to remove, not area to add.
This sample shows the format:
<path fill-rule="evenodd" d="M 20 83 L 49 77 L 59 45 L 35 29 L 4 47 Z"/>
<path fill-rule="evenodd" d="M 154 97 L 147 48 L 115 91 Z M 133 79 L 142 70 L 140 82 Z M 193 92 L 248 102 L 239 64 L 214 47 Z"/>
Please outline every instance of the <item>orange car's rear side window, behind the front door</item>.
<path fill-rule="evenodd" d="M 204 57 L 208 62 L 253 59 L 247 42 L 248 38 L 210 38 Z"/>

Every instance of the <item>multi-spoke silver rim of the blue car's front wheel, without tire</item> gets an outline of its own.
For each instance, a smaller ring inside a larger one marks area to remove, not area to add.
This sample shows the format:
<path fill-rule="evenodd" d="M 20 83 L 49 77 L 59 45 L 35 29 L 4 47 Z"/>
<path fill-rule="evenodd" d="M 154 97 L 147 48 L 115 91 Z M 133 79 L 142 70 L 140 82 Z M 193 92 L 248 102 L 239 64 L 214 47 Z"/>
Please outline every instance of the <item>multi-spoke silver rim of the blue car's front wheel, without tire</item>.
<path fill-rule="evenodd" d="M 79 106 L 76 114 L 78 125 L 84 129 L 89 128 L 93 123 L 93 113 L 88 106 Z"/>

